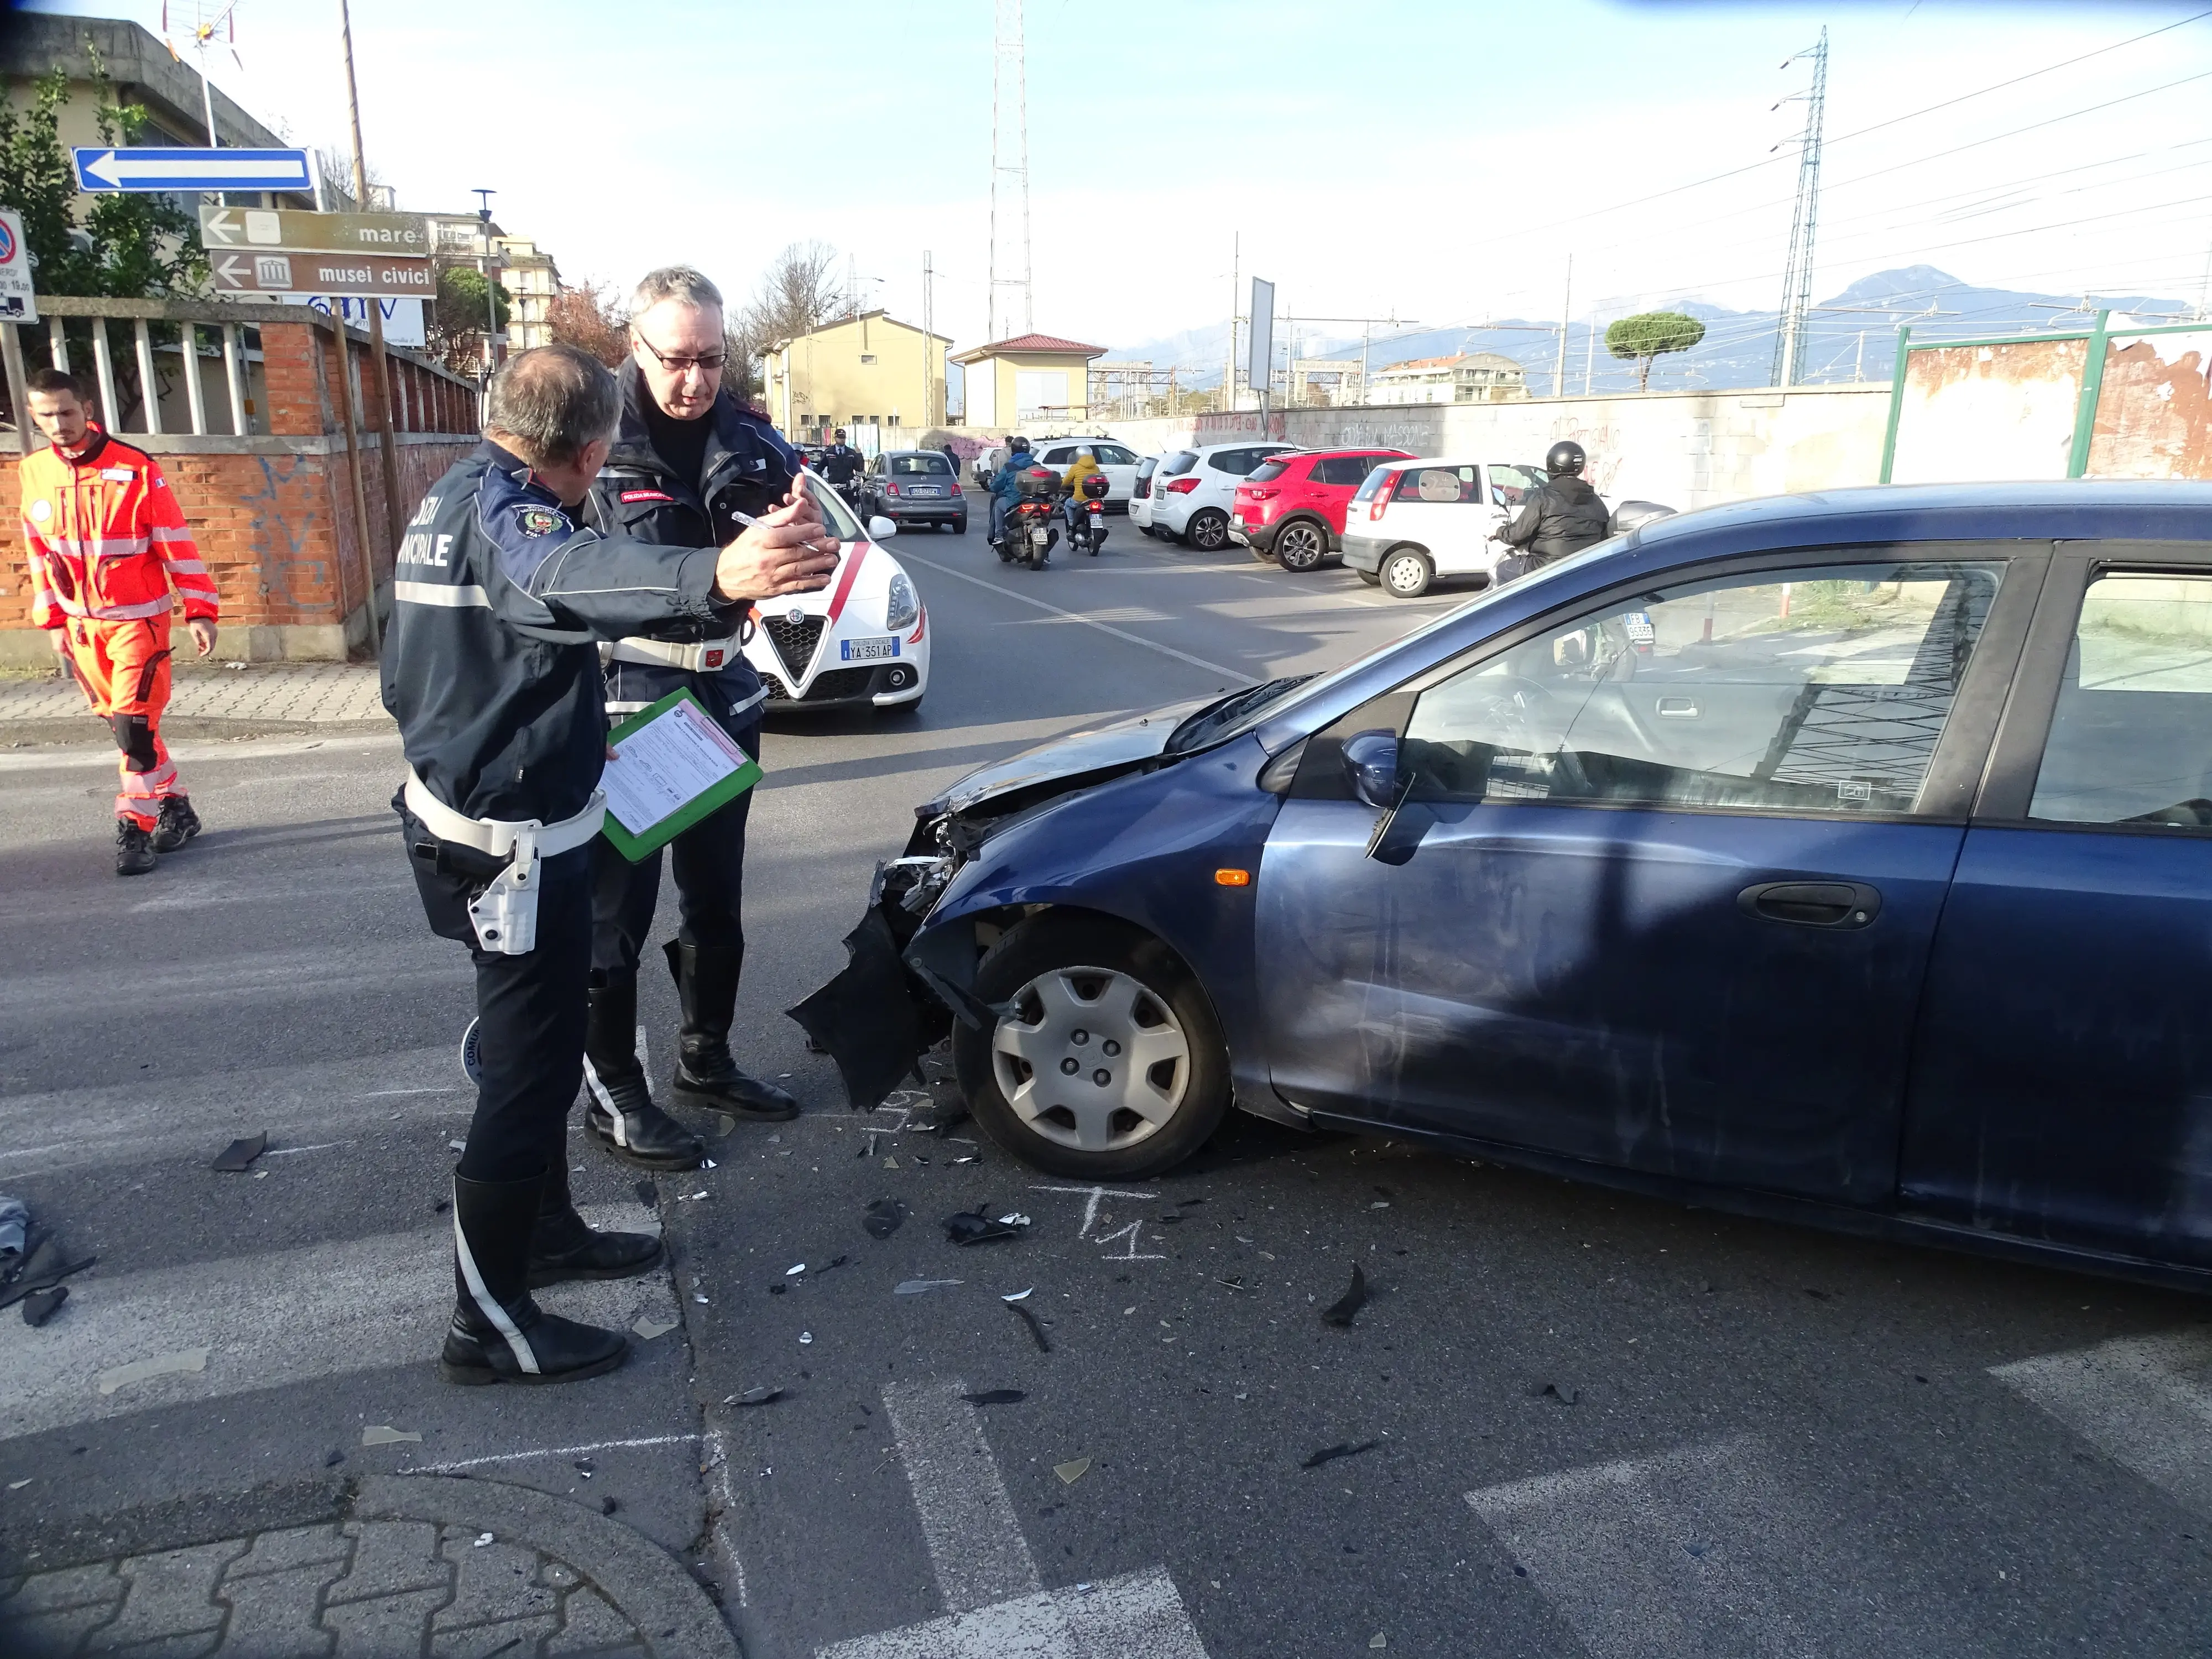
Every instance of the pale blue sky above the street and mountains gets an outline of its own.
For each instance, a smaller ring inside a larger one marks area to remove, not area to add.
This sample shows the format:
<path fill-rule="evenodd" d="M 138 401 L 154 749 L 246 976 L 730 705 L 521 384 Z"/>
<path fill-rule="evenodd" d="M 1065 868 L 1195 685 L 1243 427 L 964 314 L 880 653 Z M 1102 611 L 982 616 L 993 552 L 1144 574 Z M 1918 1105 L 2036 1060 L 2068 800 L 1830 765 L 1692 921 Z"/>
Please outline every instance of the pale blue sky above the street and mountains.
<path fill-rule="evenodd" d="M 1219 321 L 1232 234 L 1243 272 L 1312 316 L 1548 319 L 1568 252 L 1575 316 L 1674 296 L 1772 307 L 1803 122 L 1803 104 L 1774 104 L 1807 82 L 1781 64 L 1823 22 L 1816 299 L 1924 261 L 1991 285 L 2194 301 L 2212 248 L 2212 18 L 1860 128 L 2203 9 L 1031 0 L 1035 325 L 1133 345 Z M 469 208 L 471 186 L 495 186 L 504 226 L 571 279 L 626 285 L 690 259 L 741 294 L 776 248 L 821 239 L 918 319 L 927 248 L 938 327 L 971 345 L 991 11 L 358 0 L 367 148 L 409 208 Z M 190 13 L 173 0 L 179 40 Z M 243 73 L 215 60 L 217 84 L 299 142 L 343 146 L 334 0 L 241 0 L 239 53 Z M 2208 80 L 2150 91 L 2192 75 Z M 2106 100 L 2124 102 L 2073 115 Z M 1730 168 L 1750 170 L 1674 192 Z"/>

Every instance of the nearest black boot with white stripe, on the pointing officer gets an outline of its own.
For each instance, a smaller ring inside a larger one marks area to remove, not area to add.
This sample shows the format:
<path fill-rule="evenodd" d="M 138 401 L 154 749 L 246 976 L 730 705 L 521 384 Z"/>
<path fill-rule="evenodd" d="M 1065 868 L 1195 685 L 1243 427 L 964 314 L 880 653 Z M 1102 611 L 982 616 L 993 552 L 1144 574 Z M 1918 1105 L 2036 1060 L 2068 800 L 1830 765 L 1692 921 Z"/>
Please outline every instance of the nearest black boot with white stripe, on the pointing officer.
<path fill-rule="evenodd" d="M 453 1323 L 438 1354 L 447 1383 L 580 1383 L 622 1365 L 622 1332 L 577 1325 L 531 1301 L 531 1225 L 544 1177 L 453 1177 Z"/>

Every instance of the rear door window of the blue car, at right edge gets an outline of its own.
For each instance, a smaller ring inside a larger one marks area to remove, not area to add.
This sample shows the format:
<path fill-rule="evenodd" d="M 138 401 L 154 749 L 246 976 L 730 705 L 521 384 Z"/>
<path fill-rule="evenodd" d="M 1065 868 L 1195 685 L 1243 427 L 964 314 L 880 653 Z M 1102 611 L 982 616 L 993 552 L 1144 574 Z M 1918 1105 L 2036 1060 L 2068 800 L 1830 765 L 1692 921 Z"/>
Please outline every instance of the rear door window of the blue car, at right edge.
<path fill-rule="evenodd" d="M 2088 584 L 2028 816 L 2212 830 L 2212 575 Z"/>

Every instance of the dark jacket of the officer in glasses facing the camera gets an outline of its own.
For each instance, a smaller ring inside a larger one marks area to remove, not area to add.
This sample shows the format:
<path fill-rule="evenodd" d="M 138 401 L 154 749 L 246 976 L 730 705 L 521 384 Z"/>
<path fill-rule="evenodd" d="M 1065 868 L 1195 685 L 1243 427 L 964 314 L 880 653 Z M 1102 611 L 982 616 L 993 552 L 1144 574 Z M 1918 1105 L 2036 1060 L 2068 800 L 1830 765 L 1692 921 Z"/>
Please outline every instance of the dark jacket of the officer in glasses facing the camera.
<path fill-rule="evenodd" d="M 644 414 L 653 394 L 637 365 L 624 363 L 619 378 L 622 427 L 584 504 L 588 524 L 611 538 L 661 546 L 723 546 L 745 529 L 737 513 L 759 518 L 790 493 L 799 476 L 799 456 L 765 418 L 728 392 L 701 416 L 712 422 L 712 431 L 699 478 L 679 478 L 653 449 Z M 633 639 L 703 650 L 697 668 L 624 661 L 622 653 L 615 653 L 606 661 L 608 714 L 617 719 L 635 714 L 688 686 L 732 737 L 750 730 L 768 697 L 761 677 L 739 650 L 741 630 L 750 628 L 741 606 L 630 628 Z"/>

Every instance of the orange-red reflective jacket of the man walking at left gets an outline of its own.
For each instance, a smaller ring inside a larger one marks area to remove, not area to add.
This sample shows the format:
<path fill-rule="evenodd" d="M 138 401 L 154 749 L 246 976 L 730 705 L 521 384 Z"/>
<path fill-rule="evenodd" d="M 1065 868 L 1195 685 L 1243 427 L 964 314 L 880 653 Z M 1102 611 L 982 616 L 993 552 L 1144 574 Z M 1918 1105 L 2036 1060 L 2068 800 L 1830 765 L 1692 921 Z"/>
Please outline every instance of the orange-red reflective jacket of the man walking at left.
<path fill-rule="evenodd" d="M 22 544 L 31 555 L 31 624 L 184 615 L 215 622 L 215 577 L 184 509 L 144 449 L 93 427 L 71 460 L 53 445 L 22 458 Z"/>

